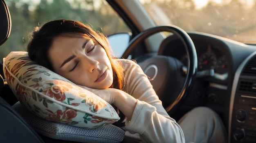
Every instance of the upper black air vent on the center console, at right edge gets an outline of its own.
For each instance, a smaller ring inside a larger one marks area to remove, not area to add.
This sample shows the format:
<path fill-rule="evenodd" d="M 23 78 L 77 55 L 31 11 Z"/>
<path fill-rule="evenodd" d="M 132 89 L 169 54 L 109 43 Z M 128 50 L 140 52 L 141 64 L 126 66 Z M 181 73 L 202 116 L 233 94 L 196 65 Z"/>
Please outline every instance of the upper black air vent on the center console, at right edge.
<path fill-rule="evenodd" d="M 245 66 L 243 75 L 256 76 L 256 56 L 254 56 Z"/>

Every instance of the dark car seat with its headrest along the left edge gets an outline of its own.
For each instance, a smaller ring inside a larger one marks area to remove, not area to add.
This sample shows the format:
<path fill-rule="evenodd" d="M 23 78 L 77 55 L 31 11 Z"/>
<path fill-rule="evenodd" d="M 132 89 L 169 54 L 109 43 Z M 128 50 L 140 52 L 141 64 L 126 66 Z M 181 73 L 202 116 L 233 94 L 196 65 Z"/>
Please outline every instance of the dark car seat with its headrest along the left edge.
<path fill-rule="evenodd" d="M 11 32 L 11 16 L 4 0 L 0 2 L 0 45 L 9 37 Z M 2 64 L 0 72 L 0 140 L 1 143 L 43 143 L 40 136 L 11 108 L 10 104 L 17 102 L 7 83 L 4 83 Z M 9 102 L 7 102 L 7 99 Z"/>

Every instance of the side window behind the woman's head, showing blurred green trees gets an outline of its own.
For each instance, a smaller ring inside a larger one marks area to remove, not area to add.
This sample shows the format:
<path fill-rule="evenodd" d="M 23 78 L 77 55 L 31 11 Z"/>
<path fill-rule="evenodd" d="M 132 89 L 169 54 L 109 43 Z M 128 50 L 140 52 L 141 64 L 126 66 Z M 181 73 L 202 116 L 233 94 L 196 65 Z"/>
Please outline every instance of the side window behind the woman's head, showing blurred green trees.
<path fill-rule="evenodd" d="M 11 34 L 0 48 L 0 59 L 11 51 L 26 51 L 29 33 L 36 26 L 60 18 L 78 20 L 111 35 L 131 32 L 105 0 L 5 0 L 11 14 Z M 115 51 L 113 51 L 115 53 Z"/>

